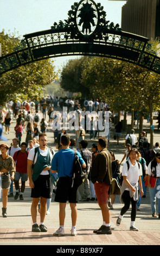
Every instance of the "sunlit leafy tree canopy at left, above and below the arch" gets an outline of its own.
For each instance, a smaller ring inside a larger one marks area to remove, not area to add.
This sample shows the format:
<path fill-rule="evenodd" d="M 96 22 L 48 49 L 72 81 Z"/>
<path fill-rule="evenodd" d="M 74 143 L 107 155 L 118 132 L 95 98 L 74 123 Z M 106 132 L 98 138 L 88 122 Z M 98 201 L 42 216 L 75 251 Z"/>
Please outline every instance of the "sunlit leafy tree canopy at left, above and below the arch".
<path fill-rule="evenodd" d="M 13 51 L 20 44 L 20 36 L 15 33 L 0 32 L 2 56 Z M 56 77 L 51 60 L 41 60 L 11 70 L 0 76 L 1 105 L 9 100 L 34 99 L 43 96 L 45 86 Z"/>

